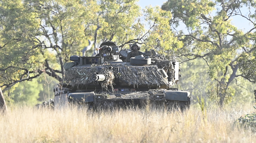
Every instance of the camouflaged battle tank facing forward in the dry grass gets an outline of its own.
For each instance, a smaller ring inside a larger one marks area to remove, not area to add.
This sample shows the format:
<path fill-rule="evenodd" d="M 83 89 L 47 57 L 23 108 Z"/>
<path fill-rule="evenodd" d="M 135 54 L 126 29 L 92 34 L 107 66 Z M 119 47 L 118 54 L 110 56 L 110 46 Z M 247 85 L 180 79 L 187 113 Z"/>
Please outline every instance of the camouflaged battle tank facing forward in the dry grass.
<path fill-rule="evenodd" d="M 151 49 L 126 62 L 131 50 L 120 50 L 116 42 L 103 42 L 97 49 L 96 56 L 70 56 L 72 62 L 64 64 L 65 78 L 53 88 L 54 107 L 190 107 L 190 92 L 172 88 L 181 77 L 174 56 L 168 60 Z"/>

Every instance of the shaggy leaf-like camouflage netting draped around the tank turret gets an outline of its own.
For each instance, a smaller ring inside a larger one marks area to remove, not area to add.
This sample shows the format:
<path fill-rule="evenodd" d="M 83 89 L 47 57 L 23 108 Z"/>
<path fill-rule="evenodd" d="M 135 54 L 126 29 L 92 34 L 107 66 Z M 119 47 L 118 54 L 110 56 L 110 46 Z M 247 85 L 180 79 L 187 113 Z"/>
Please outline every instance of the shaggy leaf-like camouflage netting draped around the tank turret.
<path fill-rule="evenodd" d="M 80 85 L 87 86 L 94 82 L 92 80 L 93 73 L 98 72 L 98 74 L 105 75 L 105 80 L 99 81 L 101 87 L 105 89 L 107 89 L 108 86 L 113 88 L 115 78 L 119 78 L 134 87 L 138 87 L 139 85 L 148 85 L 148 87 L 160 87 L 161 85 L 173 86 L 170 85 L 167 78 L 163 77 L 160 70 L 164 69 L 166 72 L 172 71 L 174 73 L 172 62 L 175 61 L 169 61 L 161 55 L 153 56 L 152 61 L 155 61 L 155 63 L 148 66 L 134 66 L 127 62 L 119 64 L 104 62 L 101 65 L 92 65 L 91 67 L 75 66 L 65 71 L 63 82 L 73 87 Z M 98 71 L 98 69 L 100 70 Z M 174 81 L 173 76 L 171 79 Z"/>

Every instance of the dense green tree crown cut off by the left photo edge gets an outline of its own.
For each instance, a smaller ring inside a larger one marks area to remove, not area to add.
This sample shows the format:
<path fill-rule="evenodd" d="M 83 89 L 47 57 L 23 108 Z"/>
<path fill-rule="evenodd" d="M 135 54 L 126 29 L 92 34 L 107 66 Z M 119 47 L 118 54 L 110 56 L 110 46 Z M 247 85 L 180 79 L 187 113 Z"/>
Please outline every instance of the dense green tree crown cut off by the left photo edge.
<path fill-rule="evenodd" d="M 3 92 L 15 83 L 37 77 L 32 35 L 38 26 L 21 1 L 0 2 L 0 85 Z"/>

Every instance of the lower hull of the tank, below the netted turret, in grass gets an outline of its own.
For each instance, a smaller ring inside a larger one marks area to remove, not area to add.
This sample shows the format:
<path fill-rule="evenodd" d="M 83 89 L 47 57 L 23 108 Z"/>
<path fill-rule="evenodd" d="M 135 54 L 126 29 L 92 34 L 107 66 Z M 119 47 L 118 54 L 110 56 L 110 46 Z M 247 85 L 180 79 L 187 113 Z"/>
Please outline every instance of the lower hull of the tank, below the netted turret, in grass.
<path fill-rule="evenodd" d="M 85 105 L 92 109 L 136 108 L 146 106 L 166 109 L 190 107 L 190 92 L 180 90 L 148 90 L 119 92 L 73 92 L 55 96 L 55 106 L 64 104 Z M 114 93 L 114 94 L 113 94 Z M 59 102 L 59 103 L 58 103 Z"/>

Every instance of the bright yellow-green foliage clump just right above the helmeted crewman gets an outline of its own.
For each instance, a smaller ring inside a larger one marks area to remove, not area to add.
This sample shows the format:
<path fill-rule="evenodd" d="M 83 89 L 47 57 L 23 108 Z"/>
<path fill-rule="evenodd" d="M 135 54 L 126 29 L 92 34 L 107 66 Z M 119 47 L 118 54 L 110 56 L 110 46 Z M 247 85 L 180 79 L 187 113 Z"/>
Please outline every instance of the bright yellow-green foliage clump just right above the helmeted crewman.
<path fill-rule="evenodd" d="M 158 53 L 165 53 L 166 51 L 177 51 L 183 43 L 175 37 L 169 22 L 172 14 L 169 11 L 160 9 L 159 7 L 147 7 L 144 9 L 145 20 L 150 21 L 149 26 L 152 29 L 149 31 L 145 49 L 155 49 Z M 155 25 L 154 25 L 155 23 Z"/>

